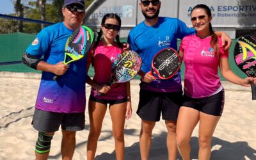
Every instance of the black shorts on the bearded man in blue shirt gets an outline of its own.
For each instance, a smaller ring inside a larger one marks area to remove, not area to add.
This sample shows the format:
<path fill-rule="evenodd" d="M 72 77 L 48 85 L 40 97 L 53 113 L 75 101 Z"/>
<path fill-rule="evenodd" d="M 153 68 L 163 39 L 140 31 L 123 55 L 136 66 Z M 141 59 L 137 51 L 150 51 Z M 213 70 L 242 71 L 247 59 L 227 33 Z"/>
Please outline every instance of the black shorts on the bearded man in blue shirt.
<path fill-rule="evenodd" d="M 163 120 L 176 121 L 181 104 L 182 92 L 162 93 L 140 90 L 140 101 L 136 113 L 142 120 L 157 122 L 162 113 Z"/>

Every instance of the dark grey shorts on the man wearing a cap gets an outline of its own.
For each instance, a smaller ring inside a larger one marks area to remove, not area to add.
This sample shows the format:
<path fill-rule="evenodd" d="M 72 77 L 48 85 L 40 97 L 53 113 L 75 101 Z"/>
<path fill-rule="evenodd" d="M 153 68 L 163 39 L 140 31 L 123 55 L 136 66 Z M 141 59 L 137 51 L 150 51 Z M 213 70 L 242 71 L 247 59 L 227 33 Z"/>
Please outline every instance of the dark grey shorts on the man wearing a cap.
<path fill-rule="evenodd" d="M 33 127 L 40 132 L 81 131 L 84 129 L 84 113 L 54 113 L 35 109 Z"/>

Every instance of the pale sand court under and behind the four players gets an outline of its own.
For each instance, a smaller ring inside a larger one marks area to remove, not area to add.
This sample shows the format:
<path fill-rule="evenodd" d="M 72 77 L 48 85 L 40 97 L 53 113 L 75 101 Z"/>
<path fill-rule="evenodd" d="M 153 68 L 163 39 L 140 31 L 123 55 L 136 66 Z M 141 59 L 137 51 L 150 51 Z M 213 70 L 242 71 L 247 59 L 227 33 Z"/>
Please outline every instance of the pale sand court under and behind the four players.
<path fill-rule="evenodd" d="M 31 125 L 40 74 L 0 72 L 0 159 L 35 159 L 37 132 Z M 132 118 L 125 122 L 125 159 L 140 159 L 140 118 L 136 115 L 139 96 L 138 80 L 131 81 Z M 256 159 L 256 100 L 250 88 L 223 82 L 225 107 L 214 132 L 211 159 Z M 90 86 L 86 86 L 86 97 Z M 87 98 L 88 99 L 88 98 Z M 102 125 L 96 159 L 115 159 L 115 147 L 107 111 Z M 198 126 L 191 139 L 191 158 L 198 159 Z M 73 159 L 86 159 L 89 131 L 88 111 L 83 131 L 77 132 Z M 52 140 L 49 159 L 61 159 L 61 131 Z M 166 128 L 157 122 L 153 131 L 150 160 L 167 159 Z M 180 159 L 180 157 L 179 157 Z"/>

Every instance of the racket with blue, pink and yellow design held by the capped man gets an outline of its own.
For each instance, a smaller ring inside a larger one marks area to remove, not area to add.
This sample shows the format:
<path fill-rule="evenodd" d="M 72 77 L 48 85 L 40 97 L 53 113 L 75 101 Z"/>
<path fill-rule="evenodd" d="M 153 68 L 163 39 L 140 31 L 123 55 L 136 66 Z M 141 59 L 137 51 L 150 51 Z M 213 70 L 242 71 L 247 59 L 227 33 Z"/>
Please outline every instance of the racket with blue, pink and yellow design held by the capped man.
<path fill-rule="evenodd" d="M 68 37 L 65 45 L 65 58 L 63 63 L 68 65 L 73 61 L 81 60 L 84 58 L 88 51 L 90 51 L 95 40 L 95 34 L 92 29 L 87 26 L 77 28 L 72 35 Z M 54 76 L 56 81 L 60 76 Z"/>

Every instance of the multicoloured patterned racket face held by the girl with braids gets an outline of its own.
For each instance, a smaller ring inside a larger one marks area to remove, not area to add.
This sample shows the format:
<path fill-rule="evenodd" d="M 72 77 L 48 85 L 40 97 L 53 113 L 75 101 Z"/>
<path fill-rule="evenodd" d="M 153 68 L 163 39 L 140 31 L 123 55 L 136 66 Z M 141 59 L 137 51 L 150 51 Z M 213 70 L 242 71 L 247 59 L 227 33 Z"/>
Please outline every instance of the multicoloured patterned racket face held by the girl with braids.
<path fill-rule="evenodd" d="M 118 55 L 116 65 L 111 76 L 111 84 L 131 81 L 141 68 L 141 57 L 134 51 L 125 51 Z"/>

